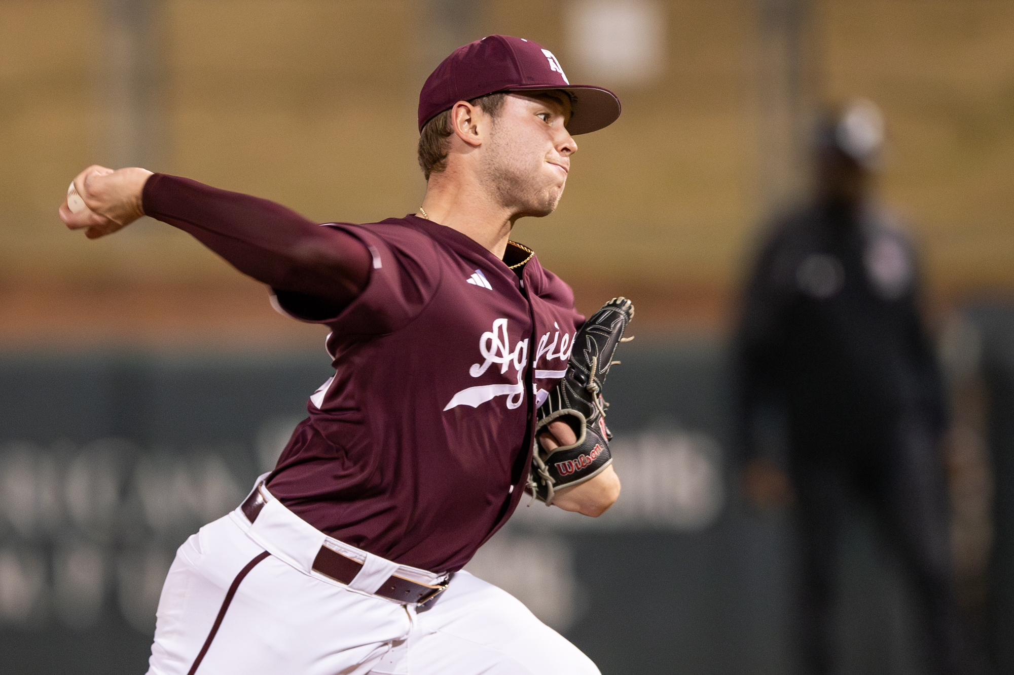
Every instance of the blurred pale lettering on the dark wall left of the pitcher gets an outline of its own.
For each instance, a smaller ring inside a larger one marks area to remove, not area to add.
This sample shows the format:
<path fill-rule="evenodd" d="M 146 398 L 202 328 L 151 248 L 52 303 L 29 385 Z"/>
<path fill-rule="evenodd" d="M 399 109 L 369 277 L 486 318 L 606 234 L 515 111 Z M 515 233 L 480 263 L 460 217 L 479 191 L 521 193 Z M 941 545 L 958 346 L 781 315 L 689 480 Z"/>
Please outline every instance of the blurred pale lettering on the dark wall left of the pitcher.
<path fill-rule="evenodd" d="M 86 629 L 112 597 L 151 633 L 175 548 L 244 493 L 215 448 L 0 447 L 0 623 Z"/>

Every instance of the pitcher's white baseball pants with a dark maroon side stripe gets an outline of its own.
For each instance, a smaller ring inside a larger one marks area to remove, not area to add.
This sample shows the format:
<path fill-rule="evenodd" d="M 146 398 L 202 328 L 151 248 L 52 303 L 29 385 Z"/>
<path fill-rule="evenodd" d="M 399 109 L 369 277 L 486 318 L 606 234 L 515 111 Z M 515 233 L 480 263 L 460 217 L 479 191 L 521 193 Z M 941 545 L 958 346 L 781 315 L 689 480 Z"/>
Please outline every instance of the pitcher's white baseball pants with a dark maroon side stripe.
<path fill-rule="evenodd" d="M 312 570 L 325 540 L 366 558 L 348 586 Z M 252 525 L 236 509 L 176 551 L 148 673 L 598 674 L 518 600 L 466 572 L 420 607 L 363 590 L 394 572 L 440 581 L 325 537 L 273 497 Z"/>

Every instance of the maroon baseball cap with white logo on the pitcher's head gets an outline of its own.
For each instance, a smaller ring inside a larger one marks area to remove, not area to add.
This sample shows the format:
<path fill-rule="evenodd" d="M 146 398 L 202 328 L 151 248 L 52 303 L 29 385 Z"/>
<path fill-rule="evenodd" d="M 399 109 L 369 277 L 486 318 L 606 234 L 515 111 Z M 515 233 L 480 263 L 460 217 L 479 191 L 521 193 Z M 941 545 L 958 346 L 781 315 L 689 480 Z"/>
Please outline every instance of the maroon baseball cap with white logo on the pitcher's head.
<path fill-rule="evenodd" d="M 419 92 L 419 131 L 459 100 L 498 91 L 563 89 L 571 94 L 567 131 L 587 134 L 620 117 L 620 98 L 603 87 L 571 84 L 553 52 L 538 43 L 510 35 L 488 35 L 454 50 L 427 78 Z"/>

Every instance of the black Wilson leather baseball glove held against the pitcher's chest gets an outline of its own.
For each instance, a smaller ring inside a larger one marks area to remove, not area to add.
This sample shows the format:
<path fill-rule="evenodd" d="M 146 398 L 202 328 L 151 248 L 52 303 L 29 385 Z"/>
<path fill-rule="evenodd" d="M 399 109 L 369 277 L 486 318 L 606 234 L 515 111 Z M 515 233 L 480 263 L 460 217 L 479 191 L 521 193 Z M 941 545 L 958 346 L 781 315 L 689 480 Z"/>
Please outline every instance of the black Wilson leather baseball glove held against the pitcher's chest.
<path fill-rule="evenodd" d="M 578 485 L 598 475 L 612 463 L 605 427 L 602 384 L 613 363 L 612 355 L 624 340 L 624 328 L 634 318 L 634 305 L 613 298 L 591 315 L 574 336 L 567 374 L 538 408 L 535 438 L 560 420 L 574 430 L 577 442 L 546 450 L 535 441 L 528 491 L 547 506 L 561 488 Z"/>

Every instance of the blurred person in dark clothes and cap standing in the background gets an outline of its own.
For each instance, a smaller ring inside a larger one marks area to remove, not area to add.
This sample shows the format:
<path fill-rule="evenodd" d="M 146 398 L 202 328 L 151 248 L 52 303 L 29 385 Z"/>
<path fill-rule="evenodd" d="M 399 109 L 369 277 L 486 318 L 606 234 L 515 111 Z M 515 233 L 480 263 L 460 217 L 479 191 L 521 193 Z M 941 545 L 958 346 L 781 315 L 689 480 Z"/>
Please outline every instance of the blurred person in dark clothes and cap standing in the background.
<path fill-rule="evenodd" d="M 836 544 L 856 496 L 872 504 L 911 574 L 925 617 L 926 672 L 969 670 L 938 450 L 941 375 L 917 306 L 912 244 L 870 199 L 883 138 L 869 101 L 825 114 L 813 197 L 768 234 L 736 340 L 744 488 L 764 502 L 791 485 L 802 665 L 814 675 L 839 670 Z M 788 484 L 764 457 L 773 419 L 784 423 Z"/>

